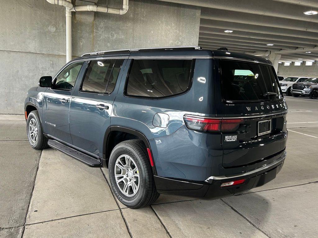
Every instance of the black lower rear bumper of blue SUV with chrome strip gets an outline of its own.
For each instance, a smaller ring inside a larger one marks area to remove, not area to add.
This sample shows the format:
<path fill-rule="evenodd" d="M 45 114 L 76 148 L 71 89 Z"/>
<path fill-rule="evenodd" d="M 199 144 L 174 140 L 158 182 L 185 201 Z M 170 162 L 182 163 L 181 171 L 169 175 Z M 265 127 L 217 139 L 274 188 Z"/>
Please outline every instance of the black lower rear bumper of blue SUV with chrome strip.
<path fill-rule="evenodd" d="M 273 180 L 281 170 L 286 158 L 286 152 L 269 166 L 264 166 L 258 171 L 250 171 L 241 175 L 233 176 L 211 176 L 206 181 L 181 181 L 171 178 L 163 178 L 154 176 L 157 191 L 161 194 L 191 196 L 202 199 L 218 199 L 222 197 L 232 196 L 250 190 L 251 188 L 259 187 Z M 215 179 L 211 179 L 211 178 Z M 228 186 L 221 188 L 224 182 L 245 179 L 245 182 L 240 185 Z"/>

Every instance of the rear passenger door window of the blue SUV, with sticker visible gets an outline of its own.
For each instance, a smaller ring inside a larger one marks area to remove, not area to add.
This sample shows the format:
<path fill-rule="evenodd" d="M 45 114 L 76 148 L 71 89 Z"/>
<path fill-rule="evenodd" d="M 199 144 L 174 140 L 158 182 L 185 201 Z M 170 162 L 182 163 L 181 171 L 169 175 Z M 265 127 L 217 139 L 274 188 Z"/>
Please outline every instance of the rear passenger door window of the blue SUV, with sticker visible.
<path fill-rule="evenodd" d="M 83 80 L 82 91 L 111 93 L 114 90 L 122 62 L 121 59 L 91 61 Z"/>

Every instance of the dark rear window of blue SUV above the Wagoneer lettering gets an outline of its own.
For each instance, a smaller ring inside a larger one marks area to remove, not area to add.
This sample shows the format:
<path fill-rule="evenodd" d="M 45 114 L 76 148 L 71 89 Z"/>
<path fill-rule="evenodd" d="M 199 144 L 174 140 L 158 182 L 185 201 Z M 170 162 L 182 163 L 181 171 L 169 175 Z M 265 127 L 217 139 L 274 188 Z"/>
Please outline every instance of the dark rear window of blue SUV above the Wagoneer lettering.
<path fill-rule="evenodd" d="M 220 60 L 221 87 L 225 101 L 259 101 L 282 98 L 273 67 Z"/>

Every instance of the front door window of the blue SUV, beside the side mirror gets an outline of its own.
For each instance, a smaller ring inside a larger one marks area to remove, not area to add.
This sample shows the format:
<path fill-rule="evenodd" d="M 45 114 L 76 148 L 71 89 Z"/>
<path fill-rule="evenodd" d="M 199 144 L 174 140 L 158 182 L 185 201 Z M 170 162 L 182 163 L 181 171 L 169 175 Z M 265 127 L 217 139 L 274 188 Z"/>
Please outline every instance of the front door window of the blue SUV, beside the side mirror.
<path fill-rule="evenodd" d="M 56 77 L 54 89 L 71 90 L 84 62 L 70 64 Z"/>

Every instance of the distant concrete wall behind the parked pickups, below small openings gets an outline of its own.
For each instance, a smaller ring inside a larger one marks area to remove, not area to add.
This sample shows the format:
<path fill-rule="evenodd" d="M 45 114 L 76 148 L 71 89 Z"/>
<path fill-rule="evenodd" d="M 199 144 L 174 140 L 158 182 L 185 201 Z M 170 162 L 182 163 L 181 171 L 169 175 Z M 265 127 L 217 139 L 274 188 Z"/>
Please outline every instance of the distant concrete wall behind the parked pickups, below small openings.
<path fill-rule="evenodd" d="M 304 76 L 304 77 L 318 77 L 318 65 L 313 64 L 311 66 L 306 66 L 301 64 L 300 66 L 289 65 L 284 66 L 284 64 L 279 64 L 278 66 L 278 75 L 287 77 L 287 76 Z"/>

